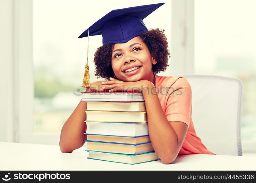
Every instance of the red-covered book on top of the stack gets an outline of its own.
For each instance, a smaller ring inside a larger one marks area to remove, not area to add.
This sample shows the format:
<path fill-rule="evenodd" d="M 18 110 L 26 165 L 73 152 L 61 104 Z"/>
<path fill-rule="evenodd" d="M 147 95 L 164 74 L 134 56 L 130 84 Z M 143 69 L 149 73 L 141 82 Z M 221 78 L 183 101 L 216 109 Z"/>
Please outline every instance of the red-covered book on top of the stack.
<path fill-rule="evenodd" d="M 82 99 L 81 101 L 142 101 L 144 98 L 142 93 L 137 92 L 81 92 Z"/>

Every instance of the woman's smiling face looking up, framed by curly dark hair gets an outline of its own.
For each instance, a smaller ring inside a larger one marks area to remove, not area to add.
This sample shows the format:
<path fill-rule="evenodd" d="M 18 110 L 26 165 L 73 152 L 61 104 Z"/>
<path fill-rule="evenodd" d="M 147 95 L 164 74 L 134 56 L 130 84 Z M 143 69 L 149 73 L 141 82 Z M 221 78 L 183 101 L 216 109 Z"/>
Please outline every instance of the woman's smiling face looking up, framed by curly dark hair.
<path fill-rule="evenodd" d="M 156 60 L 140 37 L 114 45 L 111 65 L 117 79 L 127 82 L 149 80 L 153 75 L 152 64 L 156 64 Z"/>

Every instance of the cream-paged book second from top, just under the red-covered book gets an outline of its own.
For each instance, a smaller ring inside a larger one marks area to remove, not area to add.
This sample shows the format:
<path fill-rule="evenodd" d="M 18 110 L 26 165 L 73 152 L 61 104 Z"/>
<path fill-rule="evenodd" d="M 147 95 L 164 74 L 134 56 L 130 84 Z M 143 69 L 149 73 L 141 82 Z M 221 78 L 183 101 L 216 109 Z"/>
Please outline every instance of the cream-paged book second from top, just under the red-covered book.
<path fill-rule="evenodd" d="M 86 102 L 88 111 L 146 111 L 145 102 L 104 102 L 88 101 Z"/>

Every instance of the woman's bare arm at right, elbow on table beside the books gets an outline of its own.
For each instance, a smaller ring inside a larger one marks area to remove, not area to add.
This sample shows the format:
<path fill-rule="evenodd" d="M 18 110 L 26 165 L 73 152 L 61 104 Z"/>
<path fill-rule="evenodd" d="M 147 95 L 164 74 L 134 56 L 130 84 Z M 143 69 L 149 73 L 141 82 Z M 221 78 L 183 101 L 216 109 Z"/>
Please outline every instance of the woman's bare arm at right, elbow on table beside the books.
<path fill-rule="evenodd" d="M 178 156 L 188 125 L 183 122 L 168 122 L 155 86 L 148 81 L 144 86 L 146 87 L 143 88 L 142 94 L 146 105 L 150 141 L 162 163 L 170 164 Z"/>

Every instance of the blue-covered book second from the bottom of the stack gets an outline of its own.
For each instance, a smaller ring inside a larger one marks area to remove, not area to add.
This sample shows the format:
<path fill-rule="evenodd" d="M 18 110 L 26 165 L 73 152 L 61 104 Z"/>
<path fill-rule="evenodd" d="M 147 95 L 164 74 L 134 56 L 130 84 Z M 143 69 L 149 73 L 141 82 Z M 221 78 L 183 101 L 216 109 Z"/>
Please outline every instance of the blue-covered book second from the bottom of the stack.
<path fill-rule="evenodd" d="M 87 142 L 87 151 L 121 154 L 142 154 L 152 152 L 154 150 L 151 142 L 140 144 L 98 142 L 88 140 L 86 140 L 85 142 Z"/>

